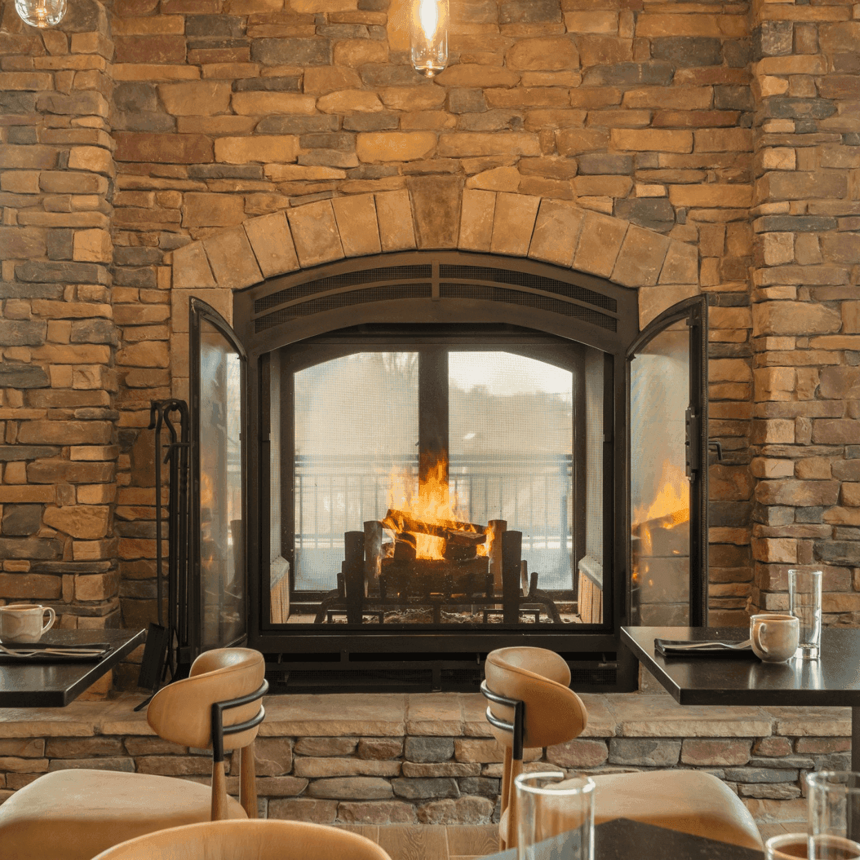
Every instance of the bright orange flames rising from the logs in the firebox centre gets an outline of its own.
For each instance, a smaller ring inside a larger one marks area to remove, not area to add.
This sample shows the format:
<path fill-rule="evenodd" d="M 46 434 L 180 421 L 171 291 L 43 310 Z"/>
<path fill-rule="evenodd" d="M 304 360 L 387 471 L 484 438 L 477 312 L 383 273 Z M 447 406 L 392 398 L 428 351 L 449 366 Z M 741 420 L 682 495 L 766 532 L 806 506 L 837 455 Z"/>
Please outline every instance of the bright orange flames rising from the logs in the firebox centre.
<path fill-rule="evenodd" d="M 407 513 L 430 525 L 441 528 L 463 530 L 467 512 L 461 505 L 458 494 L 451 493 L 446 480 L 447 463 L 439 459 L 427 470 L 427 476 L 415 488 L 415 478 L 408 471 L 392 471 L 388 488 L 388 507 L 396 512 Z M 391 517 L 383 520 L 391 531 L 408 531 L 403 519 Z M 473 530 L 474 531 L 474 530 Z M 415 534 L 415 557 L 444 559 L 445 538 L 436 535 Z M 487 555 L 488 546 L 477 547 L 479 556 Z"/>

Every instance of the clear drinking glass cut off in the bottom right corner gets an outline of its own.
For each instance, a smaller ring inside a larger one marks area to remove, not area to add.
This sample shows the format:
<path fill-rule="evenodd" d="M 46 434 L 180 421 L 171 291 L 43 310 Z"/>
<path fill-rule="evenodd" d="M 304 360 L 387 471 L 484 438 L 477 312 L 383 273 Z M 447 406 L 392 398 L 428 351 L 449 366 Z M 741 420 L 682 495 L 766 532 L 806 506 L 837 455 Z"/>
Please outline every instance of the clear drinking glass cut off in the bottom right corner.
<path fill-rule="evenodd" d="M 806 780 L 811 860 L 860 857 L 860 773 L 819 771 Z"/>

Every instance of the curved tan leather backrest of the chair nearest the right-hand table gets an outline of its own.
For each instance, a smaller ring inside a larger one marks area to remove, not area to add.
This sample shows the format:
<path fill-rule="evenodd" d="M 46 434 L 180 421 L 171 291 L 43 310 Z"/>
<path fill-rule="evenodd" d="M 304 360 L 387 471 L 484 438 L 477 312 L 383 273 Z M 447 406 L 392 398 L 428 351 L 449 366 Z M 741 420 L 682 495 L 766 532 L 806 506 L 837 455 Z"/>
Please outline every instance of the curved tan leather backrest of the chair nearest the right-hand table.
<path fill-rule="evenodd" d="M 554 746 L 578 737 L 588 723 L 588 712 L 579 696 L 569 689 L 568 664 L 545 648 L 499 648 L 490 652 L 485 665 L 490 691 L 525 703 L 523 746 Z M 513 708 L 489 703 L 494 716 L 513 721 Z M 490 726 L 504 746 L 513 736 Z"/>

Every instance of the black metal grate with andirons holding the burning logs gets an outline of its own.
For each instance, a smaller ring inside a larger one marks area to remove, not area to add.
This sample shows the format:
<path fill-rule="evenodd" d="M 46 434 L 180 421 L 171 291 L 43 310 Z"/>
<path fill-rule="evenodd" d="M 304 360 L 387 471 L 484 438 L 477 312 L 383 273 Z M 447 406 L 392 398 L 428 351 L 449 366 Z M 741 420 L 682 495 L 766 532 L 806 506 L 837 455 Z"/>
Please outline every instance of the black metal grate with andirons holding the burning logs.
<path fill-rule="evenodd" d="M 439 624 L 443 608 L 462 611 L 482 607 L 486 624 L 501 615 L 503 624 L 518 624 L 520 612 L 541 611 L 553 624 L 562 624 L 555 601 L 537 587 L 522 559 L 521 531 L 507 531 L 503 519 L 489 525 L 456 520 L 430 522 L 402 511 L 389 510 L 385 519 L 365 522 L 365 531 L 344 534 L 344 561 L 337 588 L 316 612 L 315 624 L 346 615 L 347 624 L 361 624 L 364 615 L 384 623 L 385 611 L 416 607 L 433 611 Z M 393 544 L 384 542 L 384 529 L 395 531 Z M 417 536 L 441 538 L 442 558 L 417 555 Z M 482 550 L 482 551 L 479 551 Z"/>

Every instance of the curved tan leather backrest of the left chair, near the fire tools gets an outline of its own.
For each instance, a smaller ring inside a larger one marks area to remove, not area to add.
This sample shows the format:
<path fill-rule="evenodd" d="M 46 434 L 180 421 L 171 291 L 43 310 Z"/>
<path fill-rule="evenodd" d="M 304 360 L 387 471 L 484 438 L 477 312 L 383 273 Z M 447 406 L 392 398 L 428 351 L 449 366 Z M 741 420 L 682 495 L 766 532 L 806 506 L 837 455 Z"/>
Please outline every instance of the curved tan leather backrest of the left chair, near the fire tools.
<path fill-rule="evenodd" d="M 260 689 L 266 671 L 259 651 L 250 648 L 216 648 L 194 660 L 188 677 L 159 690 L 152 698 L 146 720 L 165 740 L 181 746 L 212 746 L 212 704 L 247 696 Z M 224 711 L 224 726 L 255 716 L 260 701 Z M 248 746 L 259 727 L 224 735 L 224 749 Z"/>

